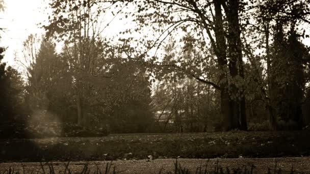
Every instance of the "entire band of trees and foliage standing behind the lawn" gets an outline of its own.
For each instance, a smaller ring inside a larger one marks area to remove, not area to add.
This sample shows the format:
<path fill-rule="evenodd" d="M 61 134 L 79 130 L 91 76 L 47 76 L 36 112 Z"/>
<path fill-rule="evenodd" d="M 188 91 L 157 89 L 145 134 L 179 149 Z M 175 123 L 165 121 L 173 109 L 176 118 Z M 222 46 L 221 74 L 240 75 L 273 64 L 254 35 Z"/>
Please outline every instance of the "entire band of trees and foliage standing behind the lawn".
<path fill-rule="evenodd" d="M 43 27 L 63 49 L 47 38 L 24 43 L 24 101 L 115 132 L 266 129 L 266 120 L 271 130 L 301 129 L 309 80 L 301 38 L 309 36 L 300 26 L 310 23 L 309 4 L 53 0 Z M 135 28 L 102 38 L 110 13 Z"/>

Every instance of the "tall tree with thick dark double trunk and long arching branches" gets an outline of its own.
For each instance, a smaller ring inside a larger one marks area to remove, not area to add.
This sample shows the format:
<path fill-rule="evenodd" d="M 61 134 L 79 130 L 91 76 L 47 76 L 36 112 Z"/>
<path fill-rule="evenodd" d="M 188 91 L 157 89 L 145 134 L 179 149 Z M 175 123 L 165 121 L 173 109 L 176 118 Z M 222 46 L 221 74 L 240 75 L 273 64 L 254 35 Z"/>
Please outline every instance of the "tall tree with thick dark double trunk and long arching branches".
<path fill-rule="evenodd" d="M 144 1 L 137 4 L 140 13 L 133 15 L 137 17 L 140 26 L 145 23 L 158 23 L 158 26 L 153 25 L 153 27 L 157 28 L 159 32 L 163 31 L 161 36 L 169 35 L 177 28 L 184 30 L 192 28 L 193 32 L 200 35 L 200 38 L 210 40 L 209 43 L 216 55 L 220 73 L 219 83 L 212 82 L 210 79 L 203 79 L 199 74 L 189 71 L 186 67 L 180 68 L 184 69 L 187 75 L 193 76 L 203 83 L 211 84 L 221 91 L 221 108 L 225 130 L 235 128 L 246 130 L 245 100 L 242 89 L 243 60 L 239 31 L 239 9 L 242 9 L 242 5 L 239 1 Z M 156 13 L 150 14 L 146 9 L 154 9 Z M 162 13 L 163 10 L 165 13 Z M 228 28 L 226 27 L 226 18 Z M 150 22 L 146 22 L 147 20 Z M 163 30 L 165 26 L 167 29 Z M 203 37 L 204 34 L 208 37 Z M 163 37 L 158 40 L 161 41 L 161 39 Z M 226 41 L 229 49 L 227 49 Z M 154 43 L 151 46 L 158 46 L 161 43 Z M 209 48 L 204 45 L 202 49 L 208 50 Z M 192 59 L 194 60 L 196 57 L 192 57 Z"/>

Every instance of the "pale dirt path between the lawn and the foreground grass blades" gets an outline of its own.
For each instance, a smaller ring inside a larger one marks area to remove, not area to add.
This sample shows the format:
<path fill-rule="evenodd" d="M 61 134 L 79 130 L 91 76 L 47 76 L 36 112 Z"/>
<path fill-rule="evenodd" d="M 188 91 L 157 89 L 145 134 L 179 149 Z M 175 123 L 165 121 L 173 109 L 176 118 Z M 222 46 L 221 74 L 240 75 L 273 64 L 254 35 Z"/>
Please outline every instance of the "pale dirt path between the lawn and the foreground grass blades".
<path fill-rule="evenodd" d="M 174 170 L 175 159 L 156 159 L 156 160 L 124 160 L 124 161 L 112 161 L 111 171 L 115 167 L 116 171 L 121 171 L 120 173 L 158 173 L 160 169 L 163 171 L 173 171 Z M 195 173 L 196 168 L 208 164 L 208 171 L 213 171 L 217 165 L 222 166 L 224 170 L 226 167 L 232 171 L 234 168 L 243 168 L 247 166 L 247 170 L 250 170 L 251 165 L 254 164 L 253 173 L 268 173 L 268 167 L 274 172 L 275 164 L 277 168 L 281 168 L 282 173 L 290 173 L 293 165 L 295 173 L 303 172 L 310 173 L 310 157 L 297 157 L 297 158 L 233 158 L 233 159 L 178 159 L 178 162 L 182 167 L 187 167 Z M 109 161 L 90 161 L 90 162 L 70 162 L 69 169 L 72 172 L 82 171 L 85 164 L 88 163 L 88 167 L 91 169 L 90 173 L 97 170 L 97 167 L 101 172 L 104 173 L 107 163 L 111 164 Z M 39 171 L 42 173 L 42 168 L 40 163 L 1 163 L 0 172 L 5 173 L 9 167 L 15 170 L 26 171 L 25 173 L 30 173 L 31 171 Z M 53 162 L 53 167 L 56 173 L 65 170 L 64 162 Z M 48 166 L 44 165 L 45 172 L 49 173 Z M 286 172 L 283 172 L 286 171 Z M 63 172 L 62 172 L 63 173 Z"/>

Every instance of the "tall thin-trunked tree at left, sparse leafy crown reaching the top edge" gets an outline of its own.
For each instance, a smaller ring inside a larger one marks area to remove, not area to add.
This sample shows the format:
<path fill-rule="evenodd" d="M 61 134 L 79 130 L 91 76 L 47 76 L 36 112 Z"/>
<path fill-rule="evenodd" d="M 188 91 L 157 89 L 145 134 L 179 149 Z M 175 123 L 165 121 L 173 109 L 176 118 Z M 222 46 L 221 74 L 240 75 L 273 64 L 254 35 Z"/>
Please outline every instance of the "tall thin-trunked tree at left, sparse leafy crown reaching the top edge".
<path fill-rule="evenodd" d="M 101 64 L 105 59 L 101 57 L 102 55 L 113 57 L 113 55 L 108 55 L 113 52 L 104 48 L 107 42 L 101 40 L 100 37 L 104 28 L 100 26 L 99 18 L 109 9 L 109 6 L 101 4 L 94 1 L 52 1 L 50 5 L 53 15 L 49 18 L 49 25 L 44 26 L 48 37 L 64 40 L 66 47 L 71 51 L 67 52 L 66 56 L 69 57 L 72 67 L 77 123 L 80 125 L 85 125 L 88 120 L 83 109 L 87 103 L 86 93 L 92 88 L 91 84 L 85 82 L 84 79 L 85 77 L 91 78 L 97 70 L 105 66 Z"/>

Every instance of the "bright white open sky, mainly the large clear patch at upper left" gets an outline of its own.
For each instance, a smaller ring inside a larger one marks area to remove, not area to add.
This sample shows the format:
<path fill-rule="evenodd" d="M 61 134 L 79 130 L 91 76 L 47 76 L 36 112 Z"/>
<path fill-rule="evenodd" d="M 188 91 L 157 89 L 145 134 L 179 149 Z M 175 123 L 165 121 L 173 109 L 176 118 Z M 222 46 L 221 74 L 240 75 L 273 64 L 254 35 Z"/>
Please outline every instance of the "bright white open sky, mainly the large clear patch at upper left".
<path fill-rule="evenodd" d="M 22 48 L 23 41 L 30 34 L 43 34 L 44 30 L 38 25 L 48 18 L 48 2 L 49 0 L 5 0 L 5 12 L 0 12 L 0 27 L 7 28 L 5 33 L 1 32 L 0 46 L 7 46 L 4 62 L 9 65 L 16 65 L 14 63 L 14 52 L 18 52 Z M 105 16 L 107 22 L 112 19 L 112 15 Z M 124 30 L 125 22 L 114 19 L 103 35 L 111 36 Z M 127 23 L 128 24 L 128 23 Z M 126 27 L 129 27 L 127 25 Z M 305 28 L 306 30 L 309 28 Z M 306 31 L 309 34 L 309 31 Z M 310 45 L 310 38 L 305 38 L 302 42 Z M 17 67 L 16 67 L 17 68 Z"/>

